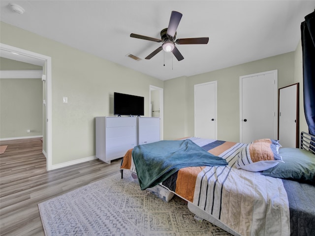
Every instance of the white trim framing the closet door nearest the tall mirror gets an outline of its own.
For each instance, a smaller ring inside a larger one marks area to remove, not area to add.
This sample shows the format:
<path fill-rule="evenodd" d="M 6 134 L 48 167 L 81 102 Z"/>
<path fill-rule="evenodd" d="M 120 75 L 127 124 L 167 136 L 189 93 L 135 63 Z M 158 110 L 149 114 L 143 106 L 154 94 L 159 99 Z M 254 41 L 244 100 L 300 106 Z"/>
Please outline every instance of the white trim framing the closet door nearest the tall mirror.
<path fill-rule="evenodd" d="M 260 73 L 255 73 L 251 75 L 244 75 L 240 76 L 240 143 L 243 142 L 243 79 L 247 77 L 259 76 L 264 74 L 274 74 L 274 107 L 275 107 L 275 116 L 274 116 L 274 138 L 277 139 L 278 137 L 278 70 L 270 70 Z"/>

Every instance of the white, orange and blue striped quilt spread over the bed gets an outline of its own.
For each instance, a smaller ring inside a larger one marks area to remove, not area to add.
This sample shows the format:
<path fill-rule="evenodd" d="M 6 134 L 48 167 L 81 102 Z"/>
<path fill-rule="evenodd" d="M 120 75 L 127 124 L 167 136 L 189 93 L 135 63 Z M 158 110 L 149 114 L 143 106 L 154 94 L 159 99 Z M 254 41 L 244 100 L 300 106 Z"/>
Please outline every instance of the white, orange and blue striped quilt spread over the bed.
<path fill-rule="evenodd" d="M 290 235 L 287 194 L 281 179 L 235 168 L 246 145 L 190 138 L 228 166 L 186 167 L 161 184 L 244 236 Z M 131 151 L 121 169 L 135 172 Z"/>

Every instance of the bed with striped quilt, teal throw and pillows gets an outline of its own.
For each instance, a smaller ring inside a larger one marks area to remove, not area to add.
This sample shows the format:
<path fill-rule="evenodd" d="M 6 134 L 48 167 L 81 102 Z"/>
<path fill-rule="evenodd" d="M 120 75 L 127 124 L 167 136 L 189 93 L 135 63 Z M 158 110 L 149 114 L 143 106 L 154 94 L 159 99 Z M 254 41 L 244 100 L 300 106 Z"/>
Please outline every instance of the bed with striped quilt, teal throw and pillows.
<path fill-rule="evenodd" d="M 123 170 L 129 170 L 137 174 L 141 189 L 156 192 L 158 187 L 170 193 L 167 196 L 178 195 L 196 216 L 235 236 L 314 235 L 314 136 L 302 132 L 301 149 L 281 148 L 278 141 L 271 139 L 241 144 L 191 137 L 179 142 L 185 143 L 190 154 L 197 146 L 201 154 L 196 154 L 191 163 L 200 162 L 198 165 L 190 166 L 189 158 L 179 165 L 176 162 L 175 168 L 157 164 L 158 155 L 181 153 L 168 152 L 164 147 L 169 144 L 160 141 L 128 150 L 122 160 L 122 177 Z M 145 148 L 149 152 L 143 155 Z M 207 155 L 203 151 L 214 159 L 210 164 L 202 162 L 203 155 Z M 169 158 L 179 160 L 183 155 L 176 159 L 172 154 Z M 268 158 L 253 161 L 257 155 Z"/>

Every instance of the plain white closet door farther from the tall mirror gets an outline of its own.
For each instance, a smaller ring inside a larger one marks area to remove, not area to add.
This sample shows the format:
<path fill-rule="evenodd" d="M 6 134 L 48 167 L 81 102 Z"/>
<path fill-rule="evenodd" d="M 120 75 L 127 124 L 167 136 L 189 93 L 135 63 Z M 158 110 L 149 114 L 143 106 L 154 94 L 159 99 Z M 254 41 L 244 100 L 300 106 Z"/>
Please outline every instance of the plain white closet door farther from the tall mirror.
<path fill-rule="evenodd" d="M 194 86 L 195 137 L 217 139 L 217 81 Z"/>

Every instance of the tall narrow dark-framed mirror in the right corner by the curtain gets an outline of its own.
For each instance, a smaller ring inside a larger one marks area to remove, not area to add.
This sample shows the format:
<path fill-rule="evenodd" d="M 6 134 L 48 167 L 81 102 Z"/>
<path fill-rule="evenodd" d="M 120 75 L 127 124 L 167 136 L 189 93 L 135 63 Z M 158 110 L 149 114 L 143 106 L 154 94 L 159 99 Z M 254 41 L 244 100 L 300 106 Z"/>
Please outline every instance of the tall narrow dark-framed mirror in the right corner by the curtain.
<path fill-rule="evenodd" d="M 279 140 L 284 148 L 298 148 L 298 84 L 279 89 Z"/>

